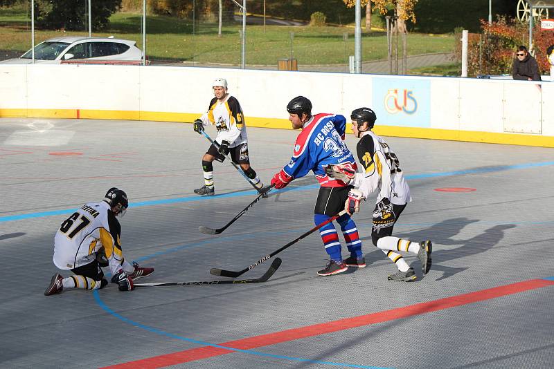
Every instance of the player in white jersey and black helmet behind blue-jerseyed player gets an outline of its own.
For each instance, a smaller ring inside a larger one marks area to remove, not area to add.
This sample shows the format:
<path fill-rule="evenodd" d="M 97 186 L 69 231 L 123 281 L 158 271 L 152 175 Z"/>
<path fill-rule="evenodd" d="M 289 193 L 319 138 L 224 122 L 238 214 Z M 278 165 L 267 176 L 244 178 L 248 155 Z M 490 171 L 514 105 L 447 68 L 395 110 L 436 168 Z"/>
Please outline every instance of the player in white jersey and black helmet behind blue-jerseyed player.
<path fill-rule="evenodd" d="M 348 193 L 346 209 L 349 214 L 359 211 L 360 200 L 368 198 L 375 189 L 379 190 L 373 211 L 371 240 L 398 267 L 398 272 L 388 276 L 390 281 L 413 281 L 417 278 L 413 268 L 397 252 L 417 255 L 422 263 L 423 274 L 427 274 L 431 269 L 431 241 L 415 243 L 391 236 L 398 217 L 411 201 L 410 188 L 404 180 L 395 153 L 381 137 L 371 131 L 377 120 L 375 112 L 370 108 L 357 108 L 352 111 L 350 118 L 352 131 L 360 139 L 356 151 L 364 171 L 354 173 L 348 167 L 334 166 L 328 169 L 328 174 L 346 182 L 351 180 L 350 183 L 357 187 Z"/>

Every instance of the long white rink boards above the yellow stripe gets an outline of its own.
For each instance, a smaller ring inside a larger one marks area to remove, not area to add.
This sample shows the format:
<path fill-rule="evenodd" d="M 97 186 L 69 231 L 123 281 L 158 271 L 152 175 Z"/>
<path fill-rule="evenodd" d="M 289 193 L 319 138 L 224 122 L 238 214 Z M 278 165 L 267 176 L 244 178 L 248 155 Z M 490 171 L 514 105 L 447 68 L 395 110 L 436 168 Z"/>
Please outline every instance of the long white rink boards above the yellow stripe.
<path fill-rule="evenodd" d="M 554 101 L 554 84 L 509 79 L 175 66 L 2 65 L 0 109 L 199 114 L 207 110 L 211 83 L 218 77 L 228 80 L 229 93 L 238 97 L 247 117 L 286 120 L 285 106 L 297 95 L 309 97 L 315 112 L 348 116 L 354 108 L 382 101 L 374 85 L 386 78 L 391 88 L 406 81 L 429 84 L 428 93 L 418 97 L 420 104 L 429 106 L 427 122 L 414 127 L 554 134 L 552 104 L 543 104 Z M 395 115 L 398 125 L 410 127 L 402 117 Z"/>

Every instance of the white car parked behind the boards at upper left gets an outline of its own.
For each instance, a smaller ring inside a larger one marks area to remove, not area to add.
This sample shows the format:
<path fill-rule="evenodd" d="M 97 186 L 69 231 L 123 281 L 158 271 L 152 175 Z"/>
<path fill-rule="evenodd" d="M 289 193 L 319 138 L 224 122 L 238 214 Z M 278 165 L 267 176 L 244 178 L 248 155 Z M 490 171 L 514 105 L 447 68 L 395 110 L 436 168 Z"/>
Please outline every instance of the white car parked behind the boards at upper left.
<path fill-rule="evenodd" d="M 0 64 L 31 64 L 33 50 Z M 72 59 L 142 61 L 135 41 L 100 37 L 55 37 L 35 46 L 35 63 L 62 64 Z"/>

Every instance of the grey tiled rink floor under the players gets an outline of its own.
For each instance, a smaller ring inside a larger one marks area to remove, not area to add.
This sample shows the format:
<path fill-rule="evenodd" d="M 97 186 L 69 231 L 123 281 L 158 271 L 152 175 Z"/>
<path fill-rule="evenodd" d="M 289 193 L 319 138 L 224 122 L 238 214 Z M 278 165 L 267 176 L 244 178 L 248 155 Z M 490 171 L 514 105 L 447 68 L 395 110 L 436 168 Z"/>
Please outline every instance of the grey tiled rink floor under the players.
<path fill-rule="evenodd" d="M 248 133 L 251 164 L 269 182 L 289 161 L 298 132 Z M 267 283 L 134 292 L 110 284 L 44 296 L 61 272 L 52 262 L 55 231 L 110 187 L 131 202 L 120 219 L 125 256 L 156 268 L 142 283 L 213 281 L 225 278 L 209 274 L 212 267 L 247 267 L 314 226 L 318 185 L 311 174 L 294 180 L 222 234 L 205 235 L 200 225 L 222 227 L 256 195 L 226 162 L 214 165 L 217 196 L 195 196 L 208 141 L 190 124 L 0 120 L 0 367 L 552 368 L 554 285 L 437 310 L 414 305 L 554 276 L 553 149 L 387 141 L 413 196 L 395 235 L 434 243 L 427 276 L 404 254 L 418 274 L 413 283 L 387 281 L 395 266 L 371 243 L 372 200 L 355 216 L 368 267 L 348 274 L 316 276 L 326 258 L 316 232 L 278 255 L 283 265 Z M 346 142 L 354 149 L 357 140 Z M 476 191 L 436 191 L 447 187 Z M 240 278 L 261 276 L 269 263 Z M 414 314 L 393 316 L 406 310 Z M 377 321 L 324 334 L 310 328 L 368 314 Z M 169 355 L 294 328 L 311 333 L 276 343 L 262 337 L 247 352 Z"/>

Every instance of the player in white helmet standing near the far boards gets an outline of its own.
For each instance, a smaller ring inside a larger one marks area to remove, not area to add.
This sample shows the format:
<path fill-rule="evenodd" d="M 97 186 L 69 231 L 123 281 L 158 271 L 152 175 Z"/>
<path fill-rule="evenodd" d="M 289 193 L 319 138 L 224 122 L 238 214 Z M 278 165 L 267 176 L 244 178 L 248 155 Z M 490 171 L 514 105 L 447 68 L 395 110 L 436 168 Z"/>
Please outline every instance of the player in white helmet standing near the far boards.
<path fill-rule="evenodd" d="M 217 137 L 215 142 L 219 146 L 211 145 L 202 157 L 202 169 L 204 170 L 204 186 L 195 189 L 195 193 L 202 196 L 213 196 L 213 160 L 224 162 L 226 155 L 231 152 L 231 160 L 240 164 L 242 171 L 250 182 L 261 190 L 264 186 L 258 178 L 256 171 L 250 167 L 248 155 L 247 126 L 244 123 L 244 115 L 238 100 L 227 93 L 227 81 L 217 78 L 212 84 L 215 97 L 208 106 L 208 111 L 194 122 L 194 130 L 198 133 L 204 131 L 204 125 L 215 124 Z"/>

